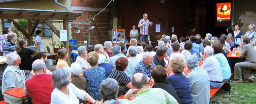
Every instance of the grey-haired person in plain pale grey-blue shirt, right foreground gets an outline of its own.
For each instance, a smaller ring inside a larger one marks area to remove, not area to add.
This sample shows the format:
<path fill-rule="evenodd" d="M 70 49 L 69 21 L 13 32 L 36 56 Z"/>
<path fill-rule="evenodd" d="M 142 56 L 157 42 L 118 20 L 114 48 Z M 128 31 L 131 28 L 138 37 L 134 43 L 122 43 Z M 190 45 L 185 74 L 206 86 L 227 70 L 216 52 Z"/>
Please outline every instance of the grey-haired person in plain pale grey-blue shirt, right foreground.
<path fill-rule="evenodd" d="M 186 58 L 186 65 L 190 70 L 186 78 L 190 85 L 193 103 L 209 104 L 210 78 L 207 71 L 198 66 L 198 58 L 194 55 L 189 55 Z"/>

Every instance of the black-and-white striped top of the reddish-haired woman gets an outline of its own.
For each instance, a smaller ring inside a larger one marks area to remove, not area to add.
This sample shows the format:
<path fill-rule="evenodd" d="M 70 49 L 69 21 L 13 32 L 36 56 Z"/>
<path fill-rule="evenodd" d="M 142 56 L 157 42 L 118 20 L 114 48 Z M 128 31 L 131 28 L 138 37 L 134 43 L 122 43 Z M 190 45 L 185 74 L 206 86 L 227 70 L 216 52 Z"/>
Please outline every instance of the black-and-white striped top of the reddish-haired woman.
<path fill-rule="evenodd" d="M 122 96 L 129 91 L 130 88 L 126 85 L 131 82 L 131 79 L 126 75 L 126 73 L 119 70 L 113 70 L 109 77 L 115 79 L 119 85 L 117 97 Z"/>

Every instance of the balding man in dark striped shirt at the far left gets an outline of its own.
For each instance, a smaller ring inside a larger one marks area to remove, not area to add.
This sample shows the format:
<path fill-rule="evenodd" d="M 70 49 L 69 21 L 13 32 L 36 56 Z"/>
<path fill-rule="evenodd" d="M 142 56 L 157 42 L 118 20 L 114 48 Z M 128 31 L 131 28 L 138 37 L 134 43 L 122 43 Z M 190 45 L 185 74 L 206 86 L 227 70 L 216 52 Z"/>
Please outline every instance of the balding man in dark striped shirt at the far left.
<path fill-rule="evenodd" d="M 8 33 L 7 41 L 4 42 L 3 53 L 9 54 L 10 52 L 14 52 L 14 50 L 16 49 L 15 42 L 17 41 L 17 39 L 18 37 L 16 33 Z"/>

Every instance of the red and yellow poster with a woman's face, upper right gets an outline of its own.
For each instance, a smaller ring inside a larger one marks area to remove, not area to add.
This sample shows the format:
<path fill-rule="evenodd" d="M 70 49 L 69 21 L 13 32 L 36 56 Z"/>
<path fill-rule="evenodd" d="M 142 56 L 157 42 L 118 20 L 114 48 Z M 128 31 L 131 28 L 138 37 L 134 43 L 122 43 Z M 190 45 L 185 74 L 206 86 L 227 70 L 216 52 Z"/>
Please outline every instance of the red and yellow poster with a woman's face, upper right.
<path fill-rule="evenodd" d="M 231 2 L 217 3 L 216 11 L 217 11 L 217 21 L 230 20 Z"/>

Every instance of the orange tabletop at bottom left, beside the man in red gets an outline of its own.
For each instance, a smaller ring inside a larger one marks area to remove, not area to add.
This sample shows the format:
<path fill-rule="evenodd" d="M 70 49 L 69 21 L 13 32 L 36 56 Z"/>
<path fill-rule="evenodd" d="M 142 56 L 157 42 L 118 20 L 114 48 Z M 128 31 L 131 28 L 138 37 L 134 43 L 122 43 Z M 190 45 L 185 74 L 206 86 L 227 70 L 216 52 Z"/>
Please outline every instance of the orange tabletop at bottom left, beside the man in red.
<path fill-rule="evenodd" d="M 16 98 L 21 98 L 22 99 L 22 104 L 23 104 L 23 98 L 29 96 L 29 94 L 26 94 L 24 91 L 24 87 L 4 91 L 5 94 L 8 94 L 10 96 L 14 96 Z"/>

